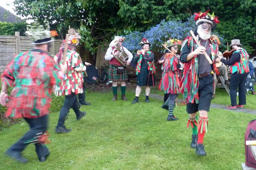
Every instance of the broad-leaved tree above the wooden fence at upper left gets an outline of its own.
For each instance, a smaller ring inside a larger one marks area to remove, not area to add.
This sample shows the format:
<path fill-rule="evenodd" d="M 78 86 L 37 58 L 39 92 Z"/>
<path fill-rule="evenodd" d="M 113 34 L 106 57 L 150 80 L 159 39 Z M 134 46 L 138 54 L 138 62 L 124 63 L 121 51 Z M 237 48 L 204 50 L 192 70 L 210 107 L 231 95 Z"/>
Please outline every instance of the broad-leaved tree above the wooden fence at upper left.
<path fill-rule="evenodd" d="M 81 29 L 85 47 L 95 52 L 99 41 L 108 41 L 127 23 L 117 16 L 115 0 L 15 0 L 15 12 L 43 24 L 49 21 L 52 29 L 65 38 L 69 25 Z"/>

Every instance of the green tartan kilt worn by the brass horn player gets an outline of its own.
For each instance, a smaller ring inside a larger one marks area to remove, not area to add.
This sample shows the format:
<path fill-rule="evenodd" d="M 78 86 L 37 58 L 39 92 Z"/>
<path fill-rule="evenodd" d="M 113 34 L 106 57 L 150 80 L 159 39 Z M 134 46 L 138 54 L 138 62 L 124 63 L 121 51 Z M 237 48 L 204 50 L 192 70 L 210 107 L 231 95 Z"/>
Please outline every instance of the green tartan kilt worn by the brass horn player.
<path fill-rule="evenodd" d="M 127 68 L 124 67 L 124 72 L 122 74 L 117 73 L 117 67 L 119 65 L 110 64 L 109 65 L 109 81 L 127 81 L 128 74 Z"/>

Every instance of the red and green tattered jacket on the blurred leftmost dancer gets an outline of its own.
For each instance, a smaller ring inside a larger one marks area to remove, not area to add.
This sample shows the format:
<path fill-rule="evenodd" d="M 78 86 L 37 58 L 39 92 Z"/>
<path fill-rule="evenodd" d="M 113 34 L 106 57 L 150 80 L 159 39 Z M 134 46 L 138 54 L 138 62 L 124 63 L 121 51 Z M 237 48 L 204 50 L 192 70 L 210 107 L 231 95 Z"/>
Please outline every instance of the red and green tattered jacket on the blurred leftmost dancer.
<path fill-rule="evenodd" d="M 2 83 L 12 86 L 7 117 L 37 118 L 49 114 L 53 86 L 62 73 L 46 52 L 33 49 L 15 56 L 2 75 Z"/>

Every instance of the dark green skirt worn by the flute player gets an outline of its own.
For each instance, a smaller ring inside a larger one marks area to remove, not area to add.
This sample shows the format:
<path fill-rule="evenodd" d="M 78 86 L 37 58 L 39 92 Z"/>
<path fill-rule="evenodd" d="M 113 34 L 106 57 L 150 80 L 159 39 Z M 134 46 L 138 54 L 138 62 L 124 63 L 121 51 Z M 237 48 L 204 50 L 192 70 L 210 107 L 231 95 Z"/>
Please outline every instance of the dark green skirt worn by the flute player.
<path fill-rule="evenodd" d="M 137 85 L 138 86 L 155 86 L 155 74 L 149 74 L 147 69 L 147 64 L 141 64 L 141 72 L 137 75 Z"/>

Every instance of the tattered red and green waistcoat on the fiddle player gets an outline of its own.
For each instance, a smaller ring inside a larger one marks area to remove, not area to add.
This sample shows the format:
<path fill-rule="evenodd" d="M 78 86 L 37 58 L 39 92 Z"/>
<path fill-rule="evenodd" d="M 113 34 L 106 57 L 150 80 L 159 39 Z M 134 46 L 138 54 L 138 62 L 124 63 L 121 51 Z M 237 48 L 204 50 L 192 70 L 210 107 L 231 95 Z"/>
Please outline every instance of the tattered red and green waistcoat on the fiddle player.
<path fill-rule="evenodd" d="M 233 74 L 235 72 L 239 72 L 240 74 L 248 73 L 249 72 L 249 55 L 246 50 L 240 49 L 236 50 L 240 54 L 240 62 L 235 62 L 230 67 L 230 73 Z M 234 52 L 234 53 L 235 53 Z"/>

